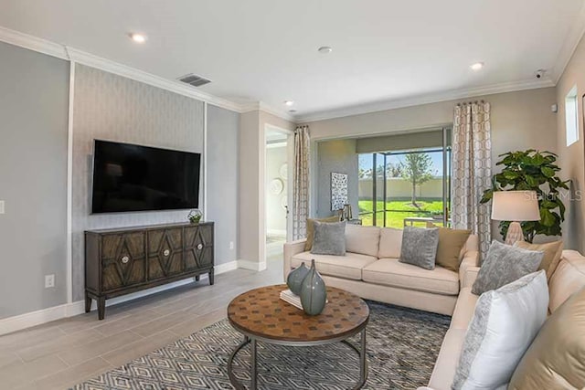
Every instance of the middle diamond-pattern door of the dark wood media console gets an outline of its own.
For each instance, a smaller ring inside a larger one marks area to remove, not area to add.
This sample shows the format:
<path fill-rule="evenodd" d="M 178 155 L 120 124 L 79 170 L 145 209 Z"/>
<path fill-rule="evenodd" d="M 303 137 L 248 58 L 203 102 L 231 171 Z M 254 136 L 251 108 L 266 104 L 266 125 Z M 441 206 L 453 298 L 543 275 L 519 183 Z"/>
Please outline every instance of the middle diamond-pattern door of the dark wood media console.
<path fill-rule="evenodd" d="M 162 279 L 183 272 L 183 229 L 148 232 L 148 279 Z"/>

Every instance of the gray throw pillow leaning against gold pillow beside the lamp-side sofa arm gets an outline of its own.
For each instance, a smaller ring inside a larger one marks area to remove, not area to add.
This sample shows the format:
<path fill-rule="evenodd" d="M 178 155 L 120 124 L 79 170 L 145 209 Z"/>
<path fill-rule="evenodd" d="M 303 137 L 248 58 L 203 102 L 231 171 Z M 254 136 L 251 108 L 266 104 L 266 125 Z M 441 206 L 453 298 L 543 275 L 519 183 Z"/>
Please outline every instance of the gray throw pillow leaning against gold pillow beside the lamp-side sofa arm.
<path fill-rule="evenodd" d="M 412 264 L 421 269 L 434 269 L 438 246 L 437 227 L 404 227 L 399 262 Z"/>

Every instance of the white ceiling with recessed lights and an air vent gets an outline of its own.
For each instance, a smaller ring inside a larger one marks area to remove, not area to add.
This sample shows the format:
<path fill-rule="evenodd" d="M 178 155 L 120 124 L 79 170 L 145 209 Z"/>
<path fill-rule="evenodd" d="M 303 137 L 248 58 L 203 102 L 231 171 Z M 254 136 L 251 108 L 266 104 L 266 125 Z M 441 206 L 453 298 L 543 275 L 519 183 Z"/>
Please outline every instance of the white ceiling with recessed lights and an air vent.
<path fill-rule="evenodd" d="M 0 26 L 299 119 L 452 90 L 553 85 L 583 0 L 0 0 Z M 144 45 L 127 34 L 143 32 Z M 331 46 L 329 55 L 317 48 Z M 473 72 L 469 65 L 483 61 Z M 535 79 L 537 69 L 548 69 Z M 507 87 L 506 87 L 507 86 Z"/>

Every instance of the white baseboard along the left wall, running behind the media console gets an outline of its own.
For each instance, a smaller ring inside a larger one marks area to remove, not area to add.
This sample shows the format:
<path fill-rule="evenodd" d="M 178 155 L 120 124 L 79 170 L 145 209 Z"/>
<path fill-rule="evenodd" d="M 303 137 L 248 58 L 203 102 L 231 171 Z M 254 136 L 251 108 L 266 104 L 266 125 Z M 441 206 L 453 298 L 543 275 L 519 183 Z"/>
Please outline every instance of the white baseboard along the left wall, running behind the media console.
<path fill-rule="evenodd" d="M 215 274 L 222 274 L 233 269 L 238 268 L 238 261 L 229 261 L 228 263 L 219 264 L 215 267 Z M 201 279 L 207 279 L 207 274 L 201 275 Z M 128 300 L 135 300 L 137 298 L 145 297 L 147 295 L 154 294 L 156 292 L 175 289 L 179 286 L 192 283 L 192 278 L 178 280 L 173 283 L 164 284 L 157 286 L 152 289 L 133 292 L 132 294 L 123 295 L 122 297 L 112 298 L 112 300 L 106 300 L 106 307 L 112 306 L 118 303 L 122 303 Z M 91 310 L 96 310 L 96 302 L 91 302 Z M 42 309 L 39 311 L 31 311 L 24 314 L 16 315 L 14 317 L 8 317 L 0 320 L 0 336 L 6 333 L 12 333 L 22 331 L 23 329 L 37 326 L 46 322 L 60 320 L 62 318 L 73 317 L 85 312 L 85 302 L 78 300 L 72 303 L 66 303 L 63 305 L 53 306 L 48 309 Z"/>

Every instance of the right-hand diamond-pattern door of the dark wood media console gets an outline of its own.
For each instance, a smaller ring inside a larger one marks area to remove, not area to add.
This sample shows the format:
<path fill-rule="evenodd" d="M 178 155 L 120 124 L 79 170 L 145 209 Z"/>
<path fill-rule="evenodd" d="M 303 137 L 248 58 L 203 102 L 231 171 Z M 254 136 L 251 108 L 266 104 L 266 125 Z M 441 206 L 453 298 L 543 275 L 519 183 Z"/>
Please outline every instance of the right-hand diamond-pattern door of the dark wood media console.
<path fill-rule="evenodd" d="M 185 268 L 213 267 L 213 225 L 185 227 Z"/>

